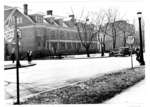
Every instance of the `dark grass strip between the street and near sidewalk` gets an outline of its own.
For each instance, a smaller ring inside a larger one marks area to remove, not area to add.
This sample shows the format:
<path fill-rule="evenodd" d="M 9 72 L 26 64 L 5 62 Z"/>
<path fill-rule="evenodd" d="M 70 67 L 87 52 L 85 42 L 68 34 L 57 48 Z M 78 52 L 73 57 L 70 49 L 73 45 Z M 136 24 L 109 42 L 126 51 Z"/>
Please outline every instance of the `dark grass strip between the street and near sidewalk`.
<path fill-rule="evenodd" d="M 97 104 L 145 78 L 145 67 L 96 76 L 74 85 L 40 93 L 22 104 Z M 135 96 L 136 97 L 136 96 Z"/>

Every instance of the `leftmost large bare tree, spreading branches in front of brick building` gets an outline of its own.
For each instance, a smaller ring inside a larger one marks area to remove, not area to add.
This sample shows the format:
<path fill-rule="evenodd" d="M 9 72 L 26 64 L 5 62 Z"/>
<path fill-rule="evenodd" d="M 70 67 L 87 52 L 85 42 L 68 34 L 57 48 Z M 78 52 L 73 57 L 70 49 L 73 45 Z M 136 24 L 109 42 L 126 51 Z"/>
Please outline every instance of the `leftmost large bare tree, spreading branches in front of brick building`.
<path fill-rule="evenodd" d="M 89 22 L 89 12 L 85 18 L 83 18 L 84 10 L 81 12 L 81 16 L 79 18 L 75 17 L 73 9 L 71 8 L 73 15 L 72 21 L 77 29 L 77 38 L 80 40 L 81 45 L 86 51 L 87 57 L 90 57 L 90 47 L 93 41 L 96 41 L 95 25 Z"/>

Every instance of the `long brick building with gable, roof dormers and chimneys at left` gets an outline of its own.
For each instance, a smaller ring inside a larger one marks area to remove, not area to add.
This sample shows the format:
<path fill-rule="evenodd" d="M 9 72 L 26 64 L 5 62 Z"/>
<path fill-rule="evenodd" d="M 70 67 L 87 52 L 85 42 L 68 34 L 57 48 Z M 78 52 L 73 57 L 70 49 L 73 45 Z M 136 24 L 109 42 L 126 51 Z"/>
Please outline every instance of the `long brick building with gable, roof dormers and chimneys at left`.
<path fill-rule="evenodd" d="M 64 21 L 62 17 L 53 16 L 52 10 L 47 15 L 28 14 L 28 5 L 24 5 L 24 13 L 17 8 L 4 7 L 5 46 L 8 53 L 14 47 L 14 39 L 9 35 L 9 28 L 14 26 L 14 16 L 17 16 L 17 27 L 21 30 L 20 51 L 37 51 L 48 49 L 54 53 L 84 51 L 77 30 L 71 20 Z M 6 36 L 7 35 L 7 36 Z M 93 41 L 97 49 L 96 41 Z M 92 49 L 91 49 L 92 50 Z"/>

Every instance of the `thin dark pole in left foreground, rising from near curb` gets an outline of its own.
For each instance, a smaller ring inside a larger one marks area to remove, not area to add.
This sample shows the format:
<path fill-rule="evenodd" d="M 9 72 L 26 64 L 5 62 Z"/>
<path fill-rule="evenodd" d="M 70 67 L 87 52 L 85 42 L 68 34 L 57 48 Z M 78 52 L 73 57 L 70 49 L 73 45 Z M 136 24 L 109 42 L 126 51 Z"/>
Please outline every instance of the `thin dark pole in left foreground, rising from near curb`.
<path fill-rule="evenodd" d="M 16 88 L 17 88 L 17 102 L 16 104 L 20 104 L 20 93 L 19 93 L 19 35 L 17 33 L 17 16 L 14 16 L 15 19 L 15 30 L 14 37 L 16 40 Z"/>

